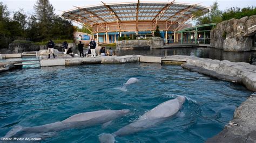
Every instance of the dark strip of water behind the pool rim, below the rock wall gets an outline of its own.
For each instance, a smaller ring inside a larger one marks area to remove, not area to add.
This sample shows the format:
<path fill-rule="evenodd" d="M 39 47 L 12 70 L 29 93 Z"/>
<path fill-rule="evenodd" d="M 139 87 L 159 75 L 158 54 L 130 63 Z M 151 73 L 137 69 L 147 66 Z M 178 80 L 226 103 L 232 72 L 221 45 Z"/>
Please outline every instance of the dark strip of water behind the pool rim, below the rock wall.
<path fill-rule="evenodd" d="M 210 58 L 217 60 L 228 60 L 232 62 L 248 62 L 256 65 L 255 52 L 225 52 L 222 49 L 215 48 L 170 48 L 170 49 L 133 49 L 119 50 L 116 55 L 192 55 L 200 58 Z"/>

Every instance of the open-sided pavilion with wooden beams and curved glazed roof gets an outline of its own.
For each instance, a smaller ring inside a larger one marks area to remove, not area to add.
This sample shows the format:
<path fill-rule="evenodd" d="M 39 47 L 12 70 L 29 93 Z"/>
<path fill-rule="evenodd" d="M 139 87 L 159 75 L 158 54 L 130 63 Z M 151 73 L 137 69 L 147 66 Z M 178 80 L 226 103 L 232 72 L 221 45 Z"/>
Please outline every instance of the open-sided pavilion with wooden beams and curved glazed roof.
<path fill-rule="evenodd" d="M 103 3 L 103 2 L 102 2 Z M 64 11 L 62 17 L 87 28 L 100 42 L 116 42 L 118 37 L 154 36 L 159 26 L 162 37 L 177 39 L 178 30 L 192 26 L 185 24 L 194 12 L 207 13 L 205 6 L 177 2 L 110 3 Z"/>

